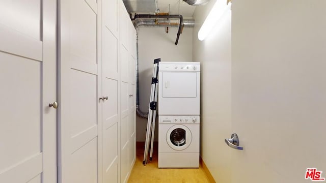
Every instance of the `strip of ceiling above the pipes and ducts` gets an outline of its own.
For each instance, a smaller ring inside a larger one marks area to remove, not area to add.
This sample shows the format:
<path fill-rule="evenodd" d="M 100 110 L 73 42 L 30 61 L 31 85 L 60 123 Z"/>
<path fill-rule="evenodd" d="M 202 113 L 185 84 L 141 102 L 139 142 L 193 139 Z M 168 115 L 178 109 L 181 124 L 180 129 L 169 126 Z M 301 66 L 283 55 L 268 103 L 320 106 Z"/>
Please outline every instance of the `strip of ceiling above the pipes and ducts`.
<path fill-rule="evenodd" d="M 188 5 L 182 0 L 157 0 L 160 13 L 193 16 L 195 6 Z M 123 0 L 129 13 L 155 13 L 155 0 Z"/>

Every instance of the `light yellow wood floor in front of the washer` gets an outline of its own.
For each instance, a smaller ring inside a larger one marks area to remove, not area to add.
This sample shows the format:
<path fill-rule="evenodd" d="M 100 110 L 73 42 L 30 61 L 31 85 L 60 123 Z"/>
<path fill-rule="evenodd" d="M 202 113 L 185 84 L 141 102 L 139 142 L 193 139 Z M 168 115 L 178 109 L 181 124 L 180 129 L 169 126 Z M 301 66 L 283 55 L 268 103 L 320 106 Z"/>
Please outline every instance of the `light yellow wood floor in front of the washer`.
<path fill-rule="evenodd" d="M 137 159 L 131 171 L 132 182 L 209 182 L 202 167 L 199 168 L 157 168 L 157 144 L 154 145 L 153 161 L 143 165 L 144 143 L 137 143 Z"/>

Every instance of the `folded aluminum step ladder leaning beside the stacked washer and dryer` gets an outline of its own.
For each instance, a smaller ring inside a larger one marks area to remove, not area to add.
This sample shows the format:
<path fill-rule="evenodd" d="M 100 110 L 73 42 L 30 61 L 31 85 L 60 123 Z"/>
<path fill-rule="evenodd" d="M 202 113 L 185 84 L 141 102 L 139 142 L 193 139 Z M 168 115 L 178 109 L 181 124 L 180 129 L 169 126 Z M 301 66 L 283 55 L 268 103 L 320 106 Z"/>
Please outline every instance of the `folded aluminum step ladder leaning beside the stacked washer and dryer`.
<path fill-rule="evenodd" d="M 143 165 L 147 164 L 148 150 L 150 148 L 149 160 L 153 159 L 153 145 L 154 145 L 154 133 L 155 133 L 155 120 L 156 120 L 156 106 L 157 106 L 157 93 L 158 93 L 158 64 L 161 61 L 160 58 L 154 59 L 153 76 L 151 85 L 151 96 L 149 99 L 145 149 L 144 149 L 144 160 Z"/>

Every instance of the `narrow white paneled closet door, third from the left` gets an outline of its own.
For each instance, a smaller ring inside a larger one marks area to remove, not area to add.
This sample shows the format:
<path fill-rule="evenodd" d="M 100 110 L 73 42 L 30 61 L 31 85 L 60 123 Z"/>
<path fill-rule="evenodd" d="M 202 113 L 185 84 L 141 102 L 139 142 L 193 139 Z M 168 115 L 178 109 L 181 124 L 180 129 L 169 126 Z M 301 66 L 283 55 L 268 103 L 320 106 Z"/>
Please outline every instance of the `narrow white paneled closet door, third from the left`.
<path fill-rule="evenodd" d="M 119 2 L 102 0 L 102 95 L 103 101 L 103 182 L 120 182 L 120 59 L 119 53 Z"/>

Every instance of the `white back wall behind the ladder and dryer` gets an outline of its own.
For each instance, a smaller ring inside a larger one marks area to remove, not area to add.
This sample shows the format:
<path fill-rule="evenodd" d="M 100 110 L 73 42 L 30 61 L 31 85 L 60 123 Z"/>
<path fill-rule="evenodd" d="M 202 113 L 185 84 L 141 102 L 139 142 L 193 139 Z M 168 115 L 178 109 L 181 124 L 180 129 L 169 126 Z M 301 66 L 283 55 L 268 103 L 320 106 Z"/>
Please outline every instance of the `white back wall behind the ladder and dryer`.
<path fill-rule="evenodd" d="M 140 27 L 138 29 L 139 107 L 143 112 L 148 112 L 154 59 L 161 58 L 161 62 L 193 61 L 193 28 L 184 27 L 178 45 L 175 45 L 177 32 L 178 27 L 169 27 L 169 34 L 165 32 L 164 27 Z M 145 141 L 146 127 L 147 119 L 137 116 L 137 141 Z M 155 132 L 158 132 L 157 128 Z M 155 134 L 155 141 L 157 141 L 157 134 Z"/>

